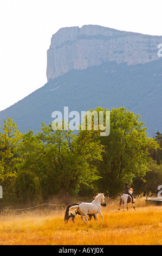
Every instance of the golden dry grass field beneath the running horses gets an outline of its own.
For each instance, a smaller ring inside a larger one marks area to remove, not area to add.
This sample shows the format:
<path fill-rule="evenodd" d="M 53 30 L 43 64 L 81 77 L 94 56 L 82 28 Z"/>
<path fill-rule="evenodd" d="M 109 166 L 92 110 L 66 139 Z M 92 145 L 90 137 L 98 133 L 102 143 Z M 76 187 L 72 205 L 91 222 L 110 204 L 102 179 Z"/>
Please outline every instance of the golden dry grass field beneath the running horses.
<path fill-rule="evenodd" d="M 134 211 L 118 211 L 118 204 L 102 208 L 104 221 L 76 216 L 63 221 L 64 212 L 49 216 L 1 216 L 0 245 L 162 245 L 162 206 L 141 199 Z"/>

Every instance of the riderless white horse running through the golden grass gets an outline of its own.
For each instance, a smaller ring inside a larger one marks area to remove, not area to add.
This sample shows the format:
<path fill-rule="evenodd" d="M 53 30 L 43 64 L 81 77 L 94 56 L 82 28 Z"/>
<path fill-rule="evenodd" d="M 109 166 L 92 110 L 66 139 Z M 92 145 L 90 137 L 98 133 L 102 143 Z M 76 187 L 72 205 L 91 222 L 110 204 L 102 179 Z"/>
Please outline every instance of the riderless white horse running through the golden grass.
<path fill-rule="evenodd" d="M 101 203 L 104 203 L 104 195 L 98 194 L 91 203 L 81 203 L 69 208 L 69 214 L 74 214 L 78 210 L 81 214 L 81 220 L 88 223 L 88 214 L 95 214 L 96 222 L 98 222 L 97 214 L 101 215 L 103 221 L 103 215 L 101 214 Z M 83 216 L 85 215 L 85 220 Z"/>

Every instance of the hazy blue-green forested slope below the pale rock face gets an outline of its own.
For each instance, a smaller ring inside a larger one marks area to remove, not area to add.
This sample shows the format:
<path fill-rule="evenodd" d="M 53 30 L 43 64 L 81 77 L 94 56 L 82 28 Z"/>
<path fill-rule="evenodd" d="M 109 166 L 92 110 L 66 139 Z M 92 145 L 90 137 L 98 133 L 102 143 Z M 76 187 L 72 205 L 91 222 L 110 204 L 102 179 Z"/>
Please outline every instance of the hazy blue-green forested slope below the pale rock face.
<path fill-rule="evenodd" d="M 107 62 L 85 70 L 71 70 L 1 111 L 0 120 L 12 117 L 20 131 L 30 129 L 36 133 L 42 122 L 48 125 L 53 121 L 54 111 L 63 113 L 64 106 L 79 113 L 98 106 L 109 110 L 125 107 L 141 116 L 152 137 L 161 129 L 161 70 L 162 59 L 134 66 Z M 152 108 L 155 103 L 156 108 Z"/>

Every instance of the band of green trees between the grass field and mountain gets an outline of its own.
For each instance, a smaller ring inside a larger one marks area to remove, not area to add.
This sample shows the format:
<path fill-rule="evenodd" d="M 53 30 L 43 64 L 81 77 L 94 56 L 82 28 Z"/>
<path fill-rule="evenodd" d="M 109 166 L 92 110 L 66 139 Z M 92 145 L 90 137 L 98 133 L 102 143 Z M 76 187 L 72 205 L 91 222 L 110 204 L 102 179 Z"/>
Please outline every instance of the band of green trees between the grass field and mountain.
<path fill-rule="evenodd" d="M 99 130 L 54 131 L 43 123 L 37 134 L 22 134 L 12 119 L 5 120 L 0 133 L 1 203 L 47 200 L 58 193 L 62 198 L 98 192 L 116 196 L 125 182 L 135 193 L 157 192 L 162 185 L 162 135 L 148 138 L 139 118 L 125 108 L 112 109 L 105 137 Z"/>

